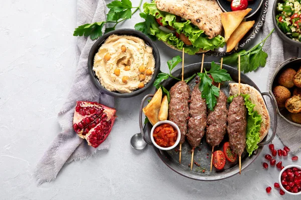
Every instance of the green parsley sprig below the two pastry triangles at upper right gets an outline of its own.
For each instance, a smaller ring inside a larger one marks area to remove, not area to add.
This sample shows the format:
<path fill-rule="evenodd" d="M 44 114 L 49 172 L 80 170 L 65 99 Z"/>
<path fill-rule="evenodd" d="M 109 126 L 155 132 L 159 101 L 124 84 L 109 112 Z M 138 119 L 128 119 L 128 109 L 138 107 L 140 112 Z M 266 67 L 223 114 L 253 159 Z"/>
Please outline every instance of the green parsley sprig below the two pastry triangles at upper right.
<path fill-rule="evenodd" d="M 223 61 L 225 64 L 238 64 L 238 55 L 240 55 L 240 68 L 244 73 L 254 71 L 259 66 L 264 67 L 266 63 L 267 53 L 262 50 L 262 47 L 266 39 L 272 34 L 272 31 L 257 45 L 250 50 L 244 49 L 239 52 L 232 53 L 231 55 L 224 57 Z"/>

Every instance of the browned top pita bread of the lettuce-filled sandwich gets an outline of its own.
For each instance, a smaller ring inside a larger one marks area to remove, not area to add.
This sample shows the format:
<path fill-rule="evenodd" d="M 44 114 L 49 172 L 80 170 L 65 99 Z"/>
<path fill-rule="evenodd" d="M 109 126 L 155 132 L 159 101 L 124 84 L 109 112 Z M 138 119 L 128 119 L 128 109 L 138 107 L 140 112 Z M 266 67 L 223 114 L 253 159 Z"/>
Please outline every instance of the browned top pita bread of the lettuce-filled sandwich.
<path fill-rule="evenodd" d="M 204 30 L 208 38 L 222 32 L 222 10 L 216 0 L 156 0 L 157 8 L 190 20 Z"/>

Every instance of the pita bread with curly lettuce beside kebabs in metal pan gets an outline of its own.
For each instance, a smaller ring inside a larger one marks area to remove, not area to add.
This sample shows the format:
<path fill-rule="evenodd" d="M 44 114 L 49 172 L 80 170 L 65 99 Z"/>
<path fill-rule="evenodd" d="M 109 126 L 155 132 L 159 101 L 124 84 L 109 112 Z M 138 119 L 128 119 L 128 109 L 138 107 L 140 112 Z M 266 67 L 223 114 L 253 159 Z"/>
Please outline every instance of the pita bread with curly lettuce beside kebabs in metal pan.
<path fill-rule="evenodd" d="M 232 102 L 238 95 L 238 83 L 229 83 Z M 249 155 L 258 148 L 258 143 L 267 135 L 270 128 L 270 116 L 260 92 L 248 84 L 240 84 L 240 95 L 244 97 L 247 108 L 246 150 Z"/>

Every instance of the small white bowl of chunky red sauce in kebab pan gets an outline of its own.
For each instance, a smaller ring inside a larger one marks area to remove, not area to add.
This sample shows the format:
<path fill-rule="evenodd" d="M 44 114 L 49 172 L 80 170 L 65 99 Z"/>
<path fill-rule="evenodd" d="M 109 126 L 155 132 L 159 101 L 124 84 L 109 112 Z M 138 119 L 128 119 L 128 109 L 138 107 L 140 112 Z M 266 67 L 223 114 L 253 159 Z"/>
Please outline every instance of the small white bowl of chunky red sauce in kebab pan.
<path fill-rule="evenodd" d="M 170 120 L 157 122 L 150 131 L 153 144 L 162 150 L 175 148 L 181 139 L 181 132 L 176 123 Z"/>

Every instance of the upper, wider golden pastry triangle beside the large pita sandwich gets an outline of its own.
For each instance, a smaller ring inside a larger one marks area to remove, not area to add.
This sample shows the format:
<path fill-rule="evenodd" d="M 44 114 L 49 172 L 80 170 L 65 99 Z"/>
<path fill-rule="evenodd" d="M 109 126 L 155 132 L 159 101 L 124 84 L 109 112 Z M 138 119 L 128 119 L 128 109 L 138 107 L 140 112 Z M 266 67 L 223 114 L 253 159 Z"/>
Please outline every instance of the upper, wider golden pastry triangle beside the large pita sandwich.
<path fill-rule="evenodd" d="M 234 30 L 239 26 L 243 17 L 251 11 L 251 8 L 221 13 L 221 21 L 225 30 L 225 40 L 227 41 Z"/>

